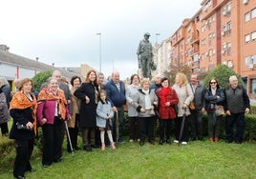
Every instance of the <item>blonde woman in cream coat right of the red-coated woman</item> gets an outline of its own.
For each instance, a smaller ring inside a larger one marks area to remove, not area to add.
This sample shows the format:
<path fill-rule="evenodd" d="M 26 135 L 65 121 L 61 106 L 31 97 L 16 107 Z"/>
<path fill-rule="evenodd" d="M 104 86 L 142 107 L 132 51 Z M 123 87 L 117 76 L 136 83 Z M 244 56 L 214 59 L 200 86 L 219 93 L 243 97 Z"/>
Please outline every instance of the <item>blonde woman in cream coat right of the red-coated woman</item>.
<path fill-rule="evenodd" d="M 187 144 L 188 142 L 188 120 L 190 116 L 190 110 L 188 108 L 189 104 L 194 99 L 194 94 L 192 89 L 190 88 L 187 77 L 184 73 L 178 72 L 175 77 L 175 84 L 173 85 L 173 89 L 176 90 L 178 95 L 179 103 L 178 103 L 178 117 L 175 120 L 175 143 L 179 143 L 179 136 L 181 134 L 181 144 Z M 181 132 L 181 122 L 183 114 L 185 114 L 184 121 L 184 129 Z"/>

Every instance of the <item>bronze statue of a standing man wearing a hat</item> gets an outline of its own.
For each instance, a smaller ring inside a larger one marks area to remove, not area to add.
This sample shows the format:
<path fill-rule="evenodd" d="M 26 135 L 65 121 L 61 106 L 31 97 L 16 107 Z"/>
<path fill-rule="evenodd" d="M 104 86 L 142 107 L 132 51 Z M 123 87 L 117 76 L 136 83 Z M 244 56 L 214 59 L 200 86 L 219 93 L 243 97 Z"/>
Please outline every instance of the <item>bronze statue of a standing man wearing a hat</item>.
<path fill-rule="evenodd" d="M 151 70 L 156 70 L 156 64 L 153 62 L 153 48 L 149 42 L 149 33 L 144 34 L 144 39 L 139 42 L 139 48 L 137 51 L 139 69 L 142 70 L 142 75 L 144 78 L 151 79 Z"/>

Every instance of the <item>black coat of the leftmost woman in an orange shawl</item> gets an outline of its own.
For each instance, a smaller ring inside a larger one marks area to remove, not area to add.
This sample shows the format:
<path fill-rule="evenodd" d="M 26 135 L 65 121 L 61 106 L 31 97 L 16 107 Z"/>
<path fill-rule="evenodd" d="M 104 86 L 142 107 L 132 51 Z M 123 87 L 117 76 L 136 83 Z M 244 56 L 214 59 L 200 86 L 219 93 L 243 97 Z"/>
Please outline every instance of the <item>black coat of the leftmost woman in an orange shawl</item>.
<path fill-rule="evenodd" d="M 26 125 L 28 122 L 33 123 L 32 109 L 11 109 L 11 117 L 13 118 L 13 123 L 10 132 L 11 139 L 19 140 L 30 140 L 34 138 L 33 129 L 17 129 L 16 123 L 22 123 Z"/>

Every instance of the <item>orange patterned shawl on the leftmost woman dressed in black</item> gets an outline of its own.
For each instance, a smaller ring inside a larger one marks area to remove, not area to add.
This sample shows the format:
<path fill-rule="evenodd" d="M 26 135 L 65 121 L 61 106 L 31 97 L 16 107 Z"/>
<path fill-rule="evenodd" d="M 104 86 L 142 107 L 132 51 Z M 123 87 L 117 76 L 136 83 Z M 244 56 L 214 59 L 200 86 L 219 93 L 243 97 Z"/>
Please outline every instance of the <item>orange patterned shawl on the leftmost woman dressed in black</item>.
<path fill-rule="evenodd" d="M 34 94 L 32 94 L 32 101 L 26 96 L 23 91 L 17 91 L 12 96 L 10 109 L 32 109 L 32 118 L 33 118 L 33 131 L 36 135 L 36 109 L 37 103 Z"/>

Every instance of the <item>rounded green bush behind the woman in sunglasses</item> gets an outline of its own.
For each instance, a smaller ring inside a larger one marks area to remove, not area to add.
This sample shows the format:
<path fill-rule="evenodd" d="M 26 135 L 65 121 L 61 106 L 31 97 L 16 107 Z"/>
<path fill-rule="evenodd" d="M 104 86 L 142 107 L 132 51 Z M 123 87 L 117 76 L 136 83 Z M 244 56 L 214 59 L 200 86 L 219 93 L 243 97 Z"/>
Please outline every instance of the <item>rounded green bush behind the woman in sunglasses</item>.
<path fill-rule="evenodd" d="M 215 77 L 218 80 L 220 87 L 224 88 L 228 86 L 229 77 L 232 75 L 236 75 L 238 77 L 239 85 L 245 87 L 242 78 L 234 70 L 228 68 L 226 65 L 217 66 L 214 68 L 214 70 L 210 71 L 203 79 L 203 84 L 208 87 L 210 78 Z"/>

